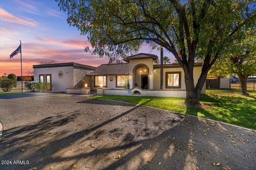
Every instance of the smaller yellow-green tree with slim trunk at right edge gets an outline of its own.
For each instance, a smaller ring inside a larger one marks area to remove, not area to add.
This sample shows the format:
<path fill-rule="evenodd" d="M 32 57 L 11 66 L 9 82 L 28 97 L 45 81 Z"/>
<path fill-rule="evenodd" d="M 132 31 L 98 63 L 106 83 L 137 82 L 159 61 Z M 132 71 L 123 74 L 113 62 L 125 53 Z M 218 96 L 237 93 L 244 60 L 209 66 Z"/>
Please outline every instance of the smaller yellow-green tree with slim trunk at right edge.
<path fill-rule="evenodd" d="M 220 77 L 238 75 L 241 94 L 248 95 L 247 78 L 256 75 L 256 29 L 241 30 L 237 36 L 242 36 L 243 39 L 234 41 L 227 53 L 214 63 L 210 74 Z"/>

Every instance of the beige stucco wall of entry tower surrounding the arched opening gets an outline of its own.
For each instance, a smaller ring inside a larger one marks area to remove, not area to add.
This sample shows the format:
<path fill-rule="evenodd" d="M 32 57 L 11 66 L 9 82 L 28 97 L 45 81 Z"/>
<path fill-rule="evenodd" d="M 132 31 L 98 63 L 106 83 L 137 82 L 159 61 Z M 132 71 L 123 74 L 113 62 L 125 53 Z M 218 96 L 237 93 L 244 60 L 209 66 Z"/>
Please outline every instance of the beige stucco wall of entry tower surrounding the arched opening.
<path fill-rule="evenodd" d="M 149 89 L 153 89 L 153 59 L 147 58 L 147 59 L 138 59 L 138 60 L 130 60 L 130 73 L 132 74 L 132 78 L 130 79 L 130 88 L 134 87 L 134 75 L 133 75 L 133 69 L 138 64 L 145 64 L 147 65 L 149 69 L 149 73 L 151 73 L 151 77 L 149 77 Z"/>

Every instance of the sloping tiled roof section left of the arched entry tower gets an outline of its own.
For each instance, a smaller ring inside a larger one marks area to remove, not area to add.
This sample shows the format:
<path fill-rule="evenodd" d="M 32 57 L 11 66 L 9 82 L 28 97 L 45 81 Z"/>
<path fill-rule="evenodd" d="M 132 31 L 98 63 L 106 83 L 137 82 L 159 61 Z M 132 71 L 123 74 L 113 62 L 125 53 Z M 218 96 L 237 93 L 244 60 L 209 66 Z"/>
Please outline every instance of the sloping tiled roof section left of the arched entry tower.
<path fill-rule="evenodd" d="M 125 75 L 130 74 L 129 63 L 121 64 L 102 64 L 97 70 L 92 71 L 89 75 Z"/>

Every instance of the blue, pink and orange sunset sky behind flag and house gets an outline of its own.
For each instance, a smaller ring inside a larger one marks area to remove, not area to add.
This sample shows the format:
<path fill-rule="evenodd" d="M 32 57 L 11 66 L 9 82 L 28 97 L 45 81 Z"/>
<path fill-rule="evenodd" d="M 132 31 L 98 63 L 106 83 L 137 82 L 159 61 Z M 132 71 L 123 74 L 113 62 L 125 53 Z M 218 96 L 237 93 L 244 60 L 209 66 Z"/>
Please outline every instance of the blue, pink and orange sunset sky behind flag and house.
<path fill-rule="evenodd" d="M 23 75 L 33 71 L 33 64 L 54 59 L 58 63 L 76 62 L 99 66 L 108 63 L 108 58 L 84 52 L 86 37 L 70 27 L 66 14 L 60 11 L 54 0 L 0 1 L 0 76 L 4 73 L 20 75 L 20 55 L 10 54 L 22 41 Z M 142 45 L 139 53 L 160 52 Z M 165 52 L 164 55 L 171 56 Z M 173 57 L 170 57 L 173 62 Z"/>

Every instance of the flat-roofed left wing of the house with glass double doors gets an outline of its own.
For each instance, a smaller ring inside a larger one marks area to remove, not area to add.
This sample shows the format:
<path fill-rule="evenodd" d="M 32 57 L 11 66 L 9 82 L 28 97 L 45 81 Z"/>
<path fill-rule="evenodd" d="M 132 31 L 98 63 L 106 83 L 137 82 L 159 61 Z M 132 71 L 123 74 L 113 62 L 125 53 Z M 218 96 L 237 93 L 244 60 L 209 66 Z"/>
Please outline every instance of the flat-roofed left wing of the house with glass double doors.
<path fill-rule="evenodd" d="M 78 63 L 33 65 L 34 81 L 52 84 L 52 92 L 67 92 L 67 88 L 82 88 L 84 75 L 97 67 Z"/>

